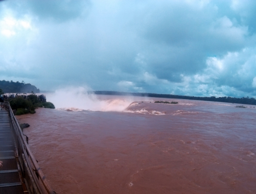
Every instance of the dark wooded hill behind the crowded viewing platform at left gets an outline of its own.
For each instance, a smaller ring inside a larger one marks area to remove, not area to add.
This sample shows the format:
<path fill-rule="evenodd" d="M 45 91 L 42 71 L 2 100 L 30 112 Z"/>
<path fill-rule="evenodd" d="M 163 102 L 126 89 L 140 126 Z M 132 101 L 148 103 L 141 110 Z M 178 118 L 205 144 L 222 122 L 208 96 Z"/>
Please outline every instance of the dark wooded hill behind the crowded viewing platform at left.
<path fill-rule="evenodd" d="M 4 93 L 39 93 L 40 90 L 30 83 L 22 82 L 13 82 L 13 81 L 0 81 L 0 89 Z"/>

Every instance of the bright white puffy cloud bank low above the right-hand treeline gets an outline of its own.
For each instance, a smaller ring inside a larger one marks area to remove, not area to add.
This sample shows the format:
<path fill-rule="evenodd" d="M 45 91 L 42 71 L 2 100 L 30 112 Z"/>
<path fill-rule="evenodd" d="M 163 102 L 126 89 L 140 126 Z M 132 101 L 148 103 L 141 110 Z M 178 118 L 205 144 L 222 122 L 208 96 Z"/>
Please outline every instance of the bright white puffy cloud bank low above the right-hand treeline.
<path fill-rule="evenodd" d="M 256 96 L 256 48 L 228 52 L 223 57 L 208 57 L 201 73 L 181 75 L 174 83 L 175 93 L 199 96 Z M 253 87 L 253 88 L 251 88 Z"/>

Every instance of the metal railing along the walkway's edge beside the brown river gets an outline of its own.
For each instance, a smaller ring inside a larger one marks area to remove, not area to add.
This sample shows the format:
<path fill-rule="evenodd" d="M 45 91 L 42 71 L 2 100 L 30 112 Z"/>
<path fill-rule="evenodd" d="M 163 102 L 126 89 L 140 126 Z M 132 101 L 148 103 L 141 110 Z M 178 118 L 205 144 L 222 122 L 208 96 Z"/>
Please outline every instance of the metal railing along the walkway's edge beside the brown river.
<path fill-rule="evenodd" d="M 37 163 L 37 160 L 33 156 L 28 145 L 28 138 L 23 134 L 23 130 L 20 128 L 9 102 L 4 102 L 3 106 L 9 112 L 10 123 L 16 144 L 15 146 L 17 147 L 18 151 L 18 161 L 29 193 L 56 194 L 44 176 L 43 171 Z"/>

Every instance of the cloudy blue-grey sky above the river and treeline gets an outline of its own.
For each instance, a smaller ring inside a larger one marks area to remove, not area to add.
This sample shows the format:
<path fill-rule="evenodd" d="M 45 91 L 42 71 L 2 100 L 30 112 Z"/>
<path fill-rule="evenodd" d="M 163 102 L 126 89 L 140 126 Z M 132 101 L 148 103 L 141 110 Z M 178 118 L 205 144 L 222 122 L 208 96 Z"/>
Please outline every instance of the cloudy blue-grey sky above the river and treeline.
<path fill-rule="evenodd" d="M 256 1 L 0 1 L 0 80 L 256 97 Z"/>

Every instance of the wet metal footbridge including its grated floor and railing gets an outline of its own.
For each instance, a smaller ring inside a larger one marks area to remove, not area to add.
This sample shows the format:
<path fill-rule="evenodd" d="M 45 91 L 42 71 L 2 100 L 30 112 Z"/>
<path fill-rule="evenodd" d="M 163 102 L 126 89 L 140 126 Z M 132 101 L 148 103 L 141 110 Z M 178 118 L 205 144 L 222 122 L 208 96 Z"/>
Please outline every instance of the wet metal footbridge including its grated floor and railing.
<path fill-rule="evenodd" d="M 0 194 L 55 194 L 8 102 L 0 110 L 0 161 Z"/>

